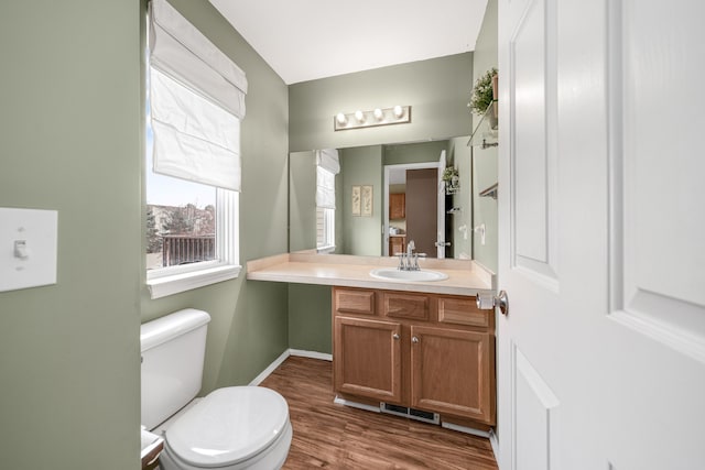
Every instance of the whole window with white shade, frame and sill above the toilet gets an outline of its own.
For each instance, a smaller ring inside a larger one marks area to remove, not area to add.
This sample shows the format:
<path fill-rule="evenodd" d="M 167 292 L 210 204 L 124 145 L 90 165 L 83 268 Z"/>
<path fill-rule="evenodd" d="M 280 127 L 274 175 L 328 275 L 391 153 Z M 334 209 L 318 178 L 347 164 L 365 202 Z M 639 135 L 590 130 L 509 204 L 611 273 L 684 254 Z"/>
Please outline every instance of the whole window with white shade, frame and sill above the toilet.
<path fill-rule="evenodd" d="M 247 79 L 165 0 L 150 2 L 147 283 L 152 298 L 237 277 Z"/>

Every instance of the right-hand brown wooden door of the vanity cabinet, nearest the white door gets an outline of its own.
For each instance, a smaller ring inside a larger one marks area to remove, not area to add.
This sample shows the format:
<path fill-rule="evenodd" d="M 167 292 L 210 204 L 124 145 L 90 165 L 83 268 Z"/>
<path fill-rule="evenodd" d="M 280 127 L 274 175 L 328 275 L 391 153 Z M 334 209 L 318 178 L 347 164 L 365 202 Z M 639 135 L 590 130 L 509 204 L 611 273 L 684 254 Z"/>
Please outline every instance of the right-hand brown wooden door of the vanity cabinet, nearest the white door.
<path fill-rule="evenodd" d="M 412 406 L 494 425 L 494 337 L 420 326 L 411 336 Z"/>

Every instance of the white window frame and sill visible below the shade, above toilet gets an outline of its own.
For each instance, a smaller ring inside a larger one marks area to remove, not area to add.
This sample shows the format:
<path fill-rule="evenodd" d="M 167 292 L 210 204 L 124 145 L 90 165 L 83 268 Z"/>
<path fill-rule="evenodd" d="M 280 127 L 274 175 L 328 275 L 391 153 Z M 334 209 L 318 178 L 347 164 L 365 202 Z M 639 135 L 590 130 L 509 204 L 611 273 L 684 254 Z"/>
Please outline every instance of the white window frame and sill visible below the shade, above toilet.
<path fill-rule="evenodd" d="M 152 298 L 204 287 L 240 275 L 239 199 L 234 190 L 216 188 L 216 260 L 147 272 Z"/>

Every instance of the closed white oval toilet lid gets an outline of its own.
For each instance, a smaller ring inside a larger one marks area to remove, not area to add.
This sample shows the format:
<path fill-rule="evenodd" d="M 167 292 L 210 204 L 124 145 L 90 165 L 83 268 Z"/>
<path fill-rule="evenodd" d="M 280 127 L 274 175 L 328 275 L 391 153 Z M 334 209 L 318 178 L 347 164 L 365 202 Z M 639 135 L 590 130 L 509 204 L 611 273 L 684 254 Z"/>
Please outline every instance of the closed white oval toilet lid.
<path fill-rule="evenodd" d="M 166 429 L 169 447 L 195 467 L 225 467 L 269 447 L 289 422 L 279 393 L 260 386 L 219 389 Z"/>

